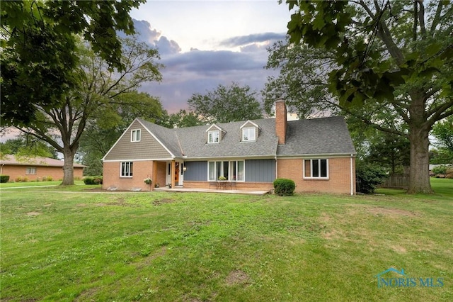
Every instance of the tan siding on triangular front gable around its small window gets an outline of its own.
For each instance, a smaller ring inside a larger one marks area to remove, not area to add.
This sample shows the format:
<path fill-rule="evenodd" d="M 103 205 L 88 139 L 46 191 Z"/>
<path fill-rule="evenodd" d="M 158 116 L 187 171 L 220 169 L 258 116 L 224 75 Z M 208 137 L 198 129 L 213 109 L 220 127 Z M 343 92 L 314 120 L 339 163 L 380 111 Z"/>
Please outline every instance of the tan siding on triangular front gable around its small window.
<path fill-rule="evenodd" d="M 141 130 L 140 141 L 131 142 L 131 131 L 137 129 Z M 168 157 L 171 157 L 168 151 L 138 121 L 135 121 L 104 160 L 149 160 Z"/>

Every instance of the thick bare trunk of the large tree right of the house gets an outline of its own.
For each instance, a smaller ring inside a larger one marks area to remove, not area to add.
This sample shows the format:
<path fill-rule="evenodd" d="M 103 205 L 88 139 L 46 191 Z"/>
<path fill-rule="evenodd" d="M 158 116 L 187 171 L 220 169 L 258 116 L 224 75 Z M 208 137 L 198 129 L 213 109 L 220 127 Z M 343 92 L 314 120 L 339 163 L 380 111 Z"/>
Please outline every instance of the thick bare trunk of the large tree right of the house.
<path fill-rule="evenodd" d="M 430 161 L 428 138 L 430 129 L 425 125 L 409 125 L 409 140 L 411 142 L 411 174 L 409 176 L 408 194 L 431 194 Z"/>

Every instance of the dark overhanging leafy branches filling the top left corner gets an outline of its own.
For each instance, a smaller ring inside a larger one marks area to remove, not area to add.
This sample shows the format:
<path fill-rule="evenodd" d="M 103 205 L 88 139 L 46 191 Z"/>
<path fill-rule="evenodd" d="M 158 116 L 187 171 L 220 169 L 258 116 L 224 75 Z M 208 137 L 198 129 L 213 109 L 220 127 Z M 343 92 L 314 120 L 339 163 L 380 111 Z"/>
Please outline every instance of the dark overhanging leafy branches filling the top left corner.
<path fill-rule="evenodd" d="M 124 70 L 117 30 L 134 33 L 129 12 L 144 0 L 2 1 L 1 121 L 26 125 L 37 108 L 65 102 L 79 68 L 83 38 L 110 68 Z"/>

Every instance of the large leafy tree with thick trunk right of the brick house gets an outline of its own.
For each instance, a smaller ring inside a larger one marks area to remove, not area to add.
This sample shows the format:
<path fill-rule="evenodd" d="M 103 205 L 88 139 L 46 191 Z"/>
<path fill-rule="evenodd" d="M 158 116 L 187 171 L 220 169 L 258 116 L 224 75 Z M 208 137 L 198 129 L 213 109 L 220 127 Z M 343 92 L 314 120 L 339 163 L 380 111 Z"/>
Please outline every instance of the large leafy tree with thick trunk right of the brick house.
<path fill-rule="evenodd" d="M 408 193 L 430 193 L 428 134 L 453 114 L 453 4 L 450 1 L 287 1 L 294 47 L 330 53 L 328 89 L 338 106 L 380 130 L 391 111 L 411 144 Z M 304 100 L 301 100 L 304 101 Z M 365 105 L 365 106 L 364 106 Z M 363 107 L 362 107 L 363 106 Z M 373 110 L 369 110 L 372 109 Z"/>

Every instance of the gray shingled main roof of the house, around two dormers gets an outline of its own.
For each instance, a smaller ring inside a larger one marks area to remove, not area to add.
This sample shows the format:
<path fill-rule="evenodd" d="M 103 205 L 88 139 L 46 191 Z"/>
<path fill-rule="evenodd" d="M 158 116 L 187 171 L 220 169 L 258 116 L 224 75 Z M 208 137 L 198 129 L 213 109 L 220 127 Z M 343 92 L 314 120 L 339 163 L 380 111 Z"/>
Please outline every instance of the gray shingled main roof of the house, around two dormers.
<path fill-rule="evenodd" d="M 275 118 L 253 120 L 260 127 L 254 142 L 241 142 L 241 125 L 246 121 L 216 124 L 224 130 L 219 143 L 208 144 L 206 130 L 212 125 L 168 129 L 139 121 L 176 157 L 273 157 L 275 155 L 355 154 L 342 117 L 288 121 L 285 145 L 278 145 Z"/>

